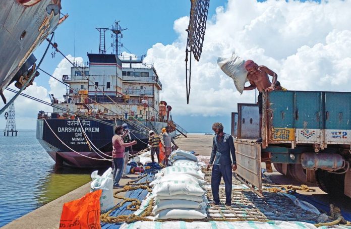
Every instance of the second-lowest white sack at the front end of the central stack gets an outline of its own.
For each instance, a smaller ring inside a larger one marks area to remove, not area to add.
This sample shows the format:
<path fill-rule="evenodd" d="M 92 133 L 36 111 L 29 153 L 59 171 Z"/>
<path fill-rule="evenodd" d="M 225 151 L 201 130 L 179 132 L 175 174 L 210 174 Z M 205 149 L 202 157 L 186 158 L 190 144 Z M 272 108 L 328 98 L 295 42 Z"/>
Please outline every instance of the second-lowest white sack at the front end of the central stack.
<path fill-rule="evenodd" d="M 168 208 L 191 208 L 191 209 L 201 209 L 203 207 L 206 207 L 205 202 L 196 202 L 196 201 L 191 201 L 191 200 L 181 200 L 181 199 L 171 199 L 171 200 L 156 200 L 155 207 L 153 208 L 153 212 L 155 214 L 158 213 L 158 211 L 168 209 Z"/>

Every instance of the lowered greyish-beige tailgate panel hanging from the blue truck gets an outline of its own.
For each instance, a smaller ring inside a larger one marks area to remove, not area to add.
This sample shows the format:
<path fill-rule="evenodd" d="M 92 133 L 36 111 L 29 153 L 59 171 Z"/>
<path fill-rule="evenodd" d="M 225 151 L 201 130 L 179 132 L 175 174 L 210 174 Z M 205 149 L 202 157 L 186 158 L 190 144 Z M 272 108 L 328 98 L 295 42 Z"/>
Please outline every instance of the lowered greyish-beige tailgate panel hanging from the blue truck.
<path fill-rule="evenodd" d="M 261 144 L 253 140 L 238 139 L 234 142 L 236 148 L 237 178 L 247 185 L 257 195 L 262 194 L 261 177 Z"/>

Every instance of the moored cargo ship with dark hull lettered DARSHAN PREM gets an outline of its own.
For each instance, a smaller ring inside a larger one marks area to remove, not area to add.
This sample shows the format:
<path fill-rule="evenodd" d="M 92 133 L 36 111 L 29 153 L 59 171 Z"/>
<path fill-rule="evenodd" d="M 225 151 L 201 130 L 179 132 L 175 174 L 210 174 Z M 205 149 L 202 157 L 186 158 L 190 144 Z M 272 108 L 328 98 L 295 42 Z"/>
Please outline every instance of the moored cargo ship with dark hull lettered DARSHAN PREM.
<path fill-rule="evenodd" d="M 187 134 L 171 120 L 172 107 L 160 101 L 162 84 L 154 66 L 142 56 L 121 55 L 122 29 L 115 22 L 110 30 L 115 53 L 106 53 L 102 36 L 99 53 L 88 53 L 88 62 L 75 62 L 71 75 L 63 75 L 66 93 L 50 95 L 53 111 L 38 113 L 37 139 L 56 165 L 110 166 L 114 127 L 124 123 L 138 141 L 133 152 L 147 146 L 150 130 L 159 134 L 170 126 L 172 136 L 176 129 Z"/>

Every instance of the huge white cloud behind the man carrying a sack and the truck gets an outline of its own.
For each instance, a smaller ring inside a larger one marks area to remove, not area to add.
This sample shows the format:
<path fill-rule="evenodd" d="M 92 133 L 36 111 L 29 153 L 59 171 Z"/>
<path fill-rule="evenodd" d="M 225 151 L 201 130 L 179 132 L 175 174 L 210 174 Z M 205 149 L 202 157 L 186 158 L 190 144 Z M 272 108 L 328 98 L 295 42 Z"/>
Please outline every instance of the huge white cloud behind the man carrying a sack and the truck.
<path fill-rule="evenodd" d="M 350 8 L 350 0 L 229 0 L 208 21 L 200 62 L 192 64 L 189 105 L 184 62 L 189 17 L 174 22 L 178 39 L 154 44 L 145 61 L 152 59 L 163 85 L 161 96 L 175 115 L 227 116 L 238 102 L 255 101 L 254 91 L 240 95 L 216 64 L 218 56 L 229 57 L 233 51 L 275 71 L 289 90 L 348 91 Z"/>

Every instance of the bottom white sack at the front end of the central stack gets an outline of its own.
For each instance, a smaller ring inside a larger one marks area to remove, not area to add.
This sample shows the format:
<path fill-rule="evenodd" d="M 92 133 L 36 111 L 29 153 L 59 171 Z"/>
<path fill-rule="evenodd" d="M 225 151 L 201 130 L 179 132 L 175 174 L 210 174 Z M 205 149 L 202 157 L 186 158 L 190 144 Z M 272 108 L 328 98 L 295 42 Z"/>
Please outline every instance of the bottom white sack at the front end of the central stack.
<path fill-rule="evenodd" d="M 155 220 L 158 219 L 203 219 L 206 218 L 206 208 L 201 210 L 189 208 L 165 209 L 155 214 Z"/>

